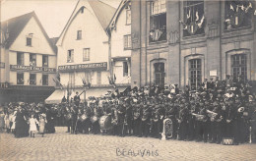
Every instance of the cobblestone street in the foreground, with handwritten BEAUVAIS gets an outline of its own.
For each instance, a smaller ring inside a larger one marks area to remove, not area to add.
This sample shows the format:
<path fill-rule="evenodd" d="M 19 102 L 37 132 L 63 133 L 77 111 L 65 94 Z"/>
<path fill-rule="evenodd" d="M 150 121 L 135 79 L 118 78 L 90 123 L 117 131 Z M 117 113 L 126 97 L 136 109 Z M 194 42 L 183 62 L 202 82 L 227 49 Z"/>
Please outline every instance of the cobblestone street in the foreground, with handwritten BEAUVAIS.
<path fill-rule="evenodd" d="M 146 137 L 56 134 L 15 138 L 1 134 L 0 160 L 256 160 L 256 144 L 220 145 Z"/>

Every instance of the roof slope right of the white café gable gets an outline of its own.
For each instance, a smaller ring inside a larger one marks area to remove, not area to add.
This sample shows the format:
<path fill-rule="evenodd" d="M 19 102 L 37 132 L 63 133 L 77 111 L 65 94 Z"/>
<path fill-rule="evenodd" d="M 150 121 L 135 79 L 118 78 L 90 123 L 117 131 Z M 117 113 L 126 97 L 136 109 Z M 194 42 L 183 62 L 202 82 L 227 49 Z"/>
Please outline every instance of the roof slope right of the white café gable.
<path fill-rule="evenodd" d="M 94 10 L 98 22 L 105 30 L 111 21 L 116 9 L 101 1 L 89 0 L 88 2 Z"/>

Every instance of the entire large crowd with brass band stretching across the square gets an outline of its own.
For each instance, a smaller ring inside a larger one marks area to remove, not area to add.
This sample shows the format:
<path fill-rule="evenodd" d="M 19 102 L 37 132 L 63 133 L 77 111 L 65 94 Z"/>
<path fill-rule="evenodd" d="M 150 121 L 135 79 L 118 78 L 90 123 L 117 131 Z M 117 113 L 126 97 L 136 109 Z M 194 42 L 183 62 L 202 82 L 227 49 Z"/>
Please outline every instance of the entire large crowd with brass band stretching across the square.
<path fill-rule="evenodd" d="M 23 104 L 16 107 L 11 104 L 5 114 L 12 118 L 12 107 L 18 109 L 16 119 L 10 121 L 16 123 L 18 137 L 41 130 L 41 125 L 46 126 L 46 132 L 54 133 L 53 120 L 58 117 L 65 118 L 67 132 L 71 134 L 151 136 L 211 143 L 231 138 L 234 144 L 251 142 L 256 135 L 255 93 L 251 84 L 239 77 L 237 80 L 229 76 L 226 80 L 218 77 L 205 80 L 197 90 L 190 86 L 180 90 L 177 84 L 172 87 L 151 85 L 123 93 L 116 89 L 99 98 L 90 97 L 83 103 L 78 92 L 72 101 L 63 100 L 48 108 L 42 104 L 27 104 L 26 108 Z M 31 119 L 26 119 L 29 116 Z M 32 128 L 36 123 L 39 126 Z M 28 128 L 24 134 L 19 127 L 25 125 Z"/>

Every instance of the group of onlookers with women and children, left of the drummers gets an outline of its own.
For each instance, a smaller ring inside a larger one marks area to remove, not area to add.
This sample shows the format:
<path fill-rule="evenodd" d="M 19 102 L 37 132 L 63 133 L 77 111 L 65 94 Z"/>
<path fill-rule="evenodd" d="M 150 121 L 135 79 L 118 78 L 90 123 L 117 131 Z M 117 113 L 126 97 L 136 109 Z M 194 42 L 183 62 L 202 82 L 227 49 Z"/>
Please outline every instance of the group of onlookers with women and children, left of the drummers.
<path fill-rule="evenodd" d="M 44 104 L 12 102 L 0 108 L 0 132 L 15 137 L 55 133 L 55 111 Z"/>

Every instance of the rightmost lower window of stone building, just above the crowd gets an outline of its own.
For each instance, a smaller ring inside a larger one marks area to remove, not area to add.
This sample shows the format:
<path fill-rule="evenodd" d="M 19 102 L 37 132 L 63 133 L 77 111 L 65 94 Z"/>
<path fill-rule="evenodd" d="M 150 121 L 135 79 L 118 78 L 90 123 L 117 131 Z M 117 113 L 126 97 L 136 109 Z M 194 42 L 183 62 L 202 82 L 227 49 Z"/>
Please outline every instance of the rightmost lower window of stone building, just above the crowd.
<path fill-rule="evenodd" d="M 236 54 L 231 56 L 231 69 L 233 79 L 236 80 L 238 76 L 241 80 L 247 80 L 247 58 L 246 54 Z"/>

